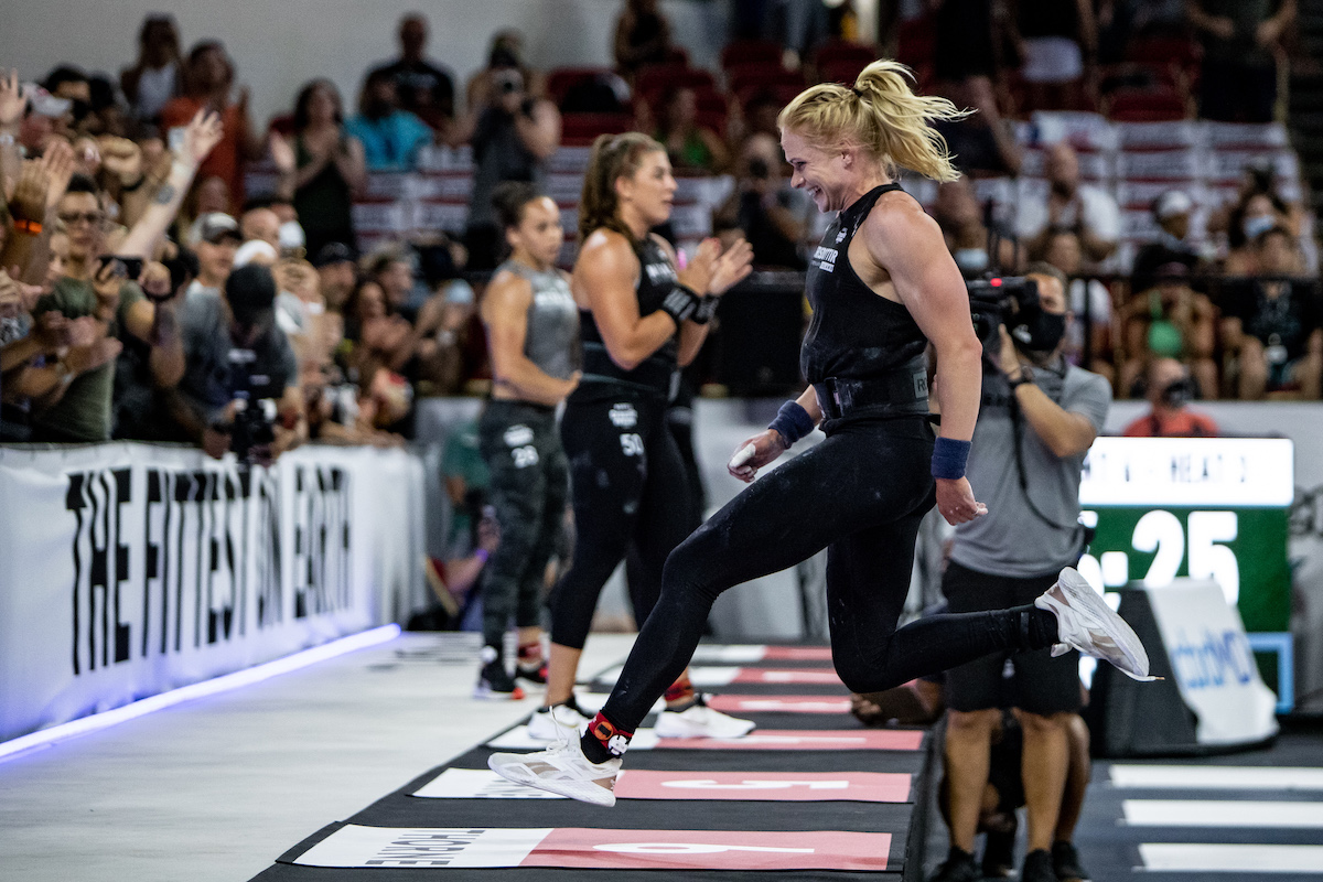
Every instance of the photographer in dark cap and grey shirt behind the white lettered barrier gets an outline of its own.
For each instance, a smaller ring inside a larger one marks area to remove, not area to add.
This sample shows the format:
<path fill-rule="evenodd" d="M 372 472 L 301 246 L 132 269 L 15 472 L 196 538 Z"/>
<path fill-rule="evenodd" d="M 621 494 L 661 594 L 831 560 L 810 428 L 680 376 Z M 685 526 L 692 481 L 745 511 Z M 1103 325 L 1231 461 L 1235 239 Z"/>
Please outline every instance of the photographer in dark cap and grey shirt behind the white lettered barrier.
<path fill-rule="evenodd" d="M 220 459 L 270 464 L 307 436 L 298 364 L 275 324 L 275 279 L 255 263 L 225 280 L 225 296 L 196 295 L 179 316 L 188 368 L 173 414 Z"/>

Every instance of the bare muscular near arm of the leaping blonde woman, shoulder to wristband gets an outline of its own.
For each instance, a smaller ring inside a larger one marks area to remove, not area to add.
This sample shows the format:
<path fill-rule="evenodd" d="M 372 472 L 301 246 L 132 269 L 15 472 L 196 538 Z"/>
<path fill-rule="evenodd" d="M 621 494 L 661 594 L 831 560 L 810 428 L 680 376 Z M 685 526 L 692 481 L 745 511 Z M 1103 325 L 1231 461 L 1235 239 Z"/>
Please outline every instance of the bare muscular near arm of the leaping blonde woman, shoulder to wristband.
<path fill-rule="evenodd" d="M 937 350 L 942 436 L 970 440 L 983 393 L 983 345 L 974 333 L 964 279 L 946 250 L 942 230 L 906 197 L 888 200 L 884 210 L 873 209 L 861 233 L 869 257 L 886 268 L 900 301 Z"/>

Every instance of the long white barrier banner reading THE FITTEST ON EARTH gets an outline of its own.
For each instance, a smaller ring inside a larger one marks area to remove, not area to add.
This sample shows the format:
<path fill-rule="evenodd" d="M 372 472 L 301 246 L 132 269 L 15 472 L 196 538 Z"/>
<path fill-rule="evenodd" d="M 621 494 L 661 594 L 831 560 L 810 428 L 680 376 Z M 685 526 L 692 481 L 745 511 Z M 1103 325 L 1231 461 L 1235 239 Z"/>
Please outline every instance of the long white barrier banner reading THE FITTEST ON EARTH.
<path fill-rule="evenodd" d="M 147 444 L 0 448 L 0 741 L 406 611 L 421 472 L 373 448 L 251 471 Z"/>

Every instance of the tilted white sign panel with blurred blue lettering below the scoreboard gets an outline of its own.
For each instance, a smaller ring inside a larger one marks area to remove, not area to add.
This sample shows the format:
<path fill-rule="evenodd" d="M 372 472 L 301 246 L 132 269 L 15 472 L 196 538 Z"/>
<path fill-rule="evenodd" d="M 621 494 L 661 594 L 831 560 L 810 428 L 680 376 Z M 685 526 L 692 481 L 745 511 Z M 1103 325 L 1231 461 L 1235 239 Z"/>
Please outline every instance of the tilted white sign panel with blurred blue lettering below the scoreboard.
<path fill-rule="evenodd" d="M 1277 696 L 1259 680 L 1240 612 L 1216 582 L 1176 579 L 1144 588 L 1176 674 L 1195 713 L 1200 744 L 1250 744 L 1277 734 Z"/>

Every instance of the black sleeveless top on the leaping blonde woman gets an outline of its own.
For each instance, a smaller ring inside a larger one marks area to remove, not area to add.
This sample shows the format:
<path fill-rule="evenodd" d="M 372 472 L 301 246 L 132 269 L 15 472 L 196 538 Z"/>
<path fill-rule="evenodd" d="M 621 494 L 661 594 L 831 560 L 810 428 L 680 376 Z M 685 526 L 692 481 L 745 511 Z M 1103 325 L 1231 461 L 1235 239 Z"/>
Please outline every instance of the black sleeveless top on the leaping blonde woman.
<path fill-rule="evenodd" d="M 808 261 L 806 288 L 814 308 L 799 369 L 804 380 L 880 380 L 909 368 L 927 346 L 918 324 L 900 303 L 878 296 L 849 264 L 849 243 L 882 193 L 901 189 L 884 184 L 836 216 L 822 245 Z"/>

